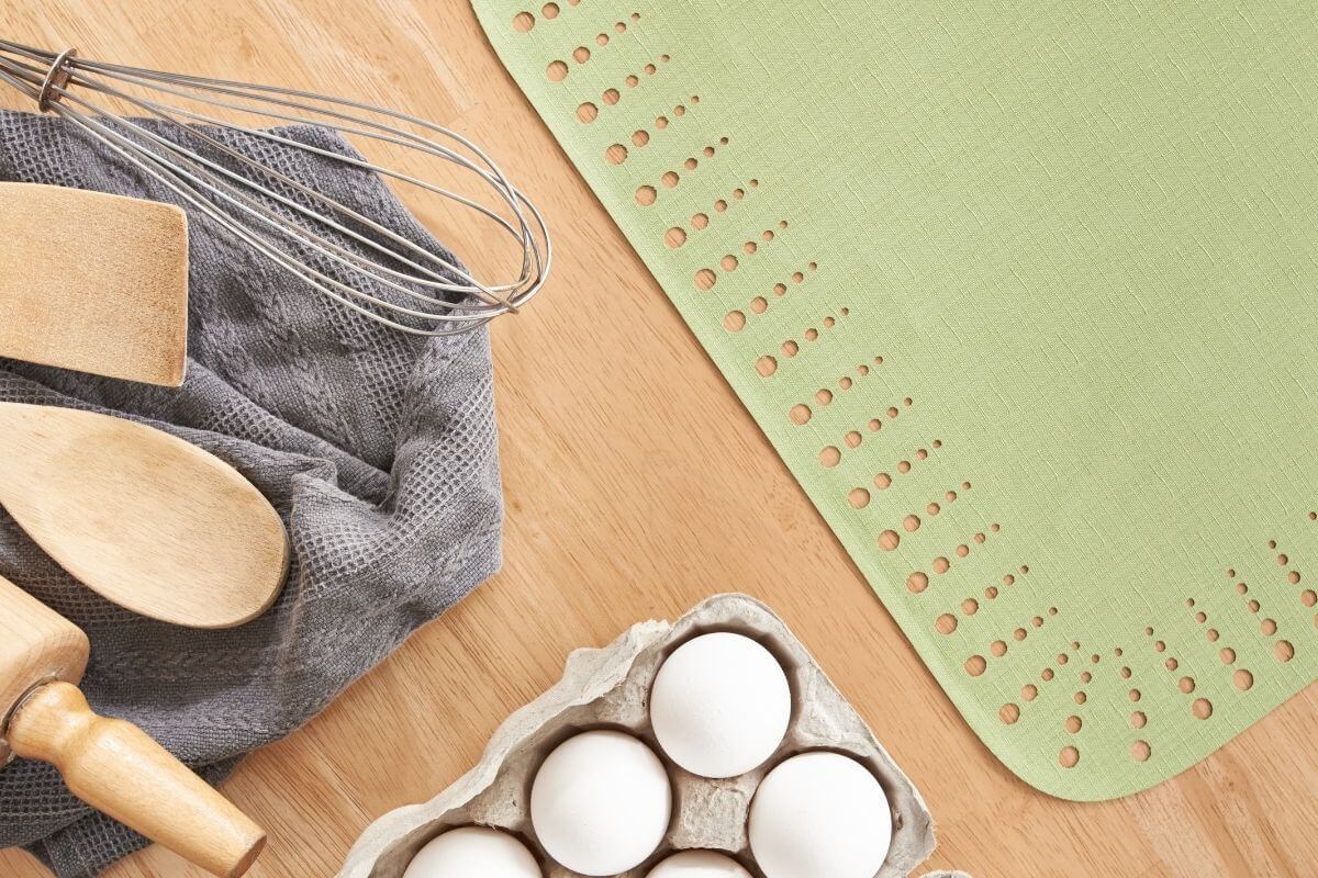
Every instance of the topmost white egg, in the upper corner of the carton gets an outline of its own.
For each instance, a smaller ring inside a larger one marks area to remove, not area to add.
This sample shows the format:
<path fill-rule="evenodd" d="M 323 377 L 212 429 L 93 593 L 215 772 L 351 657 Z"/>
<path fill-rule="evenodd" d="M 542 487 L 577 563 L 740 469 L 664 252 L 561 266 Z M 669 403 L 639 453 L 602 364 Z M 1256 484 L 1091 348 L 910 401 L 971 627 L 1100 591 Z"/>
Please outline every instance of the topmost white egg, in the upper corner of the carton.
<path fill-rule="evenodd" d="M 745 774 L 774 754 L 792 719 L 792 690 L 774 654 L 750 637 L 704 634 L 673 652 L 650 692 L 650 720 L 673 762 L 706 778 Z"/>

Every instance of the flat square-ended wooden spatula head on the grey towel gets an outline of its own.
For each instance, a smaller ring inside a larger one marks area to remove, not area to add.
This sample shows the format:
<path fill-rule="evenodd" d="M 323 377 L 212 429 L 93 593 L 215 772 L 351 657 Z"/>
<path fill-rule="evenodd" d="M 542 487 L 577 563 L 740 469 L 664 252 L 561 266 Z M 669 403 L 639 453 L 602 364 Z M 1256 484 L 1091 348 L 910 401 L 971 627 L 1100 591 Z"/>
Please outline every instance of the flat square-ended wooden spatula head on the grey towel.
<path fill-rule="evenodd" d="M 182 384 L 183 212 L 117 195 L 0 183 L 0 357 Z"/>

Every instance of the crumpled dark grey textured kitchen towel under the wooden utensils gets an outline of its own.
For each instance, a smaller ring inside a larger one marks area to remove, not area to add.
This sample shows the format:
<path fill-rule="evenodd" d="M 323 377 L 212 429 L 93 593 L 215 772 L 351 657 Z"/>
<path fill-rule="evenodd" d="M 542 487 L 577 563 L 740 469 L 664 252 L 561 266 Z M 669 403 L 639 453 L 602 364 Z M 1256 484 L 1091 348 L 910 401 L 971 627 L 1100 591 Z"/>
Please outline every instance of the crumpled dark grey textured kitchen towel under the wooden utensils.
<path fill-rule="evenodd" d="M 373 175 L 250 136 L 211 133 L 439 247 Z M 320 129 L 285 133 L 351 149 Z M 24 113 L 0 112 L 0 180 L 178 203 L 71 126 Z M 70 578 L 3 512 L 0 575 L 91 637 L 83 690 L 95 710 L 136 723 L 215 782 L 492 575 L 502 505 L 484 332 L 427 340 L 381 328 L 204 216 L 188 219 L 191 349 L 182 388 L 0 359 L 0 400 L 117 413 L 236 466 L 289 525 L 294 559 L 282 596 L 231 631 L 141 619 Z M 0 770 L 0 846 L 12 845 L 62 878 L 80 878 L 145 841 L 74 799 L 49 766 L 17 761 Z"/>

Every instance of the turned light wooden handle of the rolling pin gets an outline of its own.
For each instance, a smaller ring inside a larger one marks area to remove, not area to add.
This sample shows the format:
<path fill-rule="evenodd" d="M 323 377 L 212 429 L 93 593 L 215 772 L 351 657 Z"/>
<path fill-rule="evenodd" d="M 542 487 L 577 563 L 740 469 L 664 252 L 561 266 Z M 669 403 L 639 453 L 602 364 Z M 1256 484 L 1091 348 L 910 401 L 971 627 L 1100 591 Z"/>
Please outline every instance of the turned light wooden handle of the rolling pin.
<path fill-rule="evenodd" d="M 145 732 L 92 713 L 76 686 L 49 683 L 7 731 L 17 756 L 50 762 L 79 799 L 223 878 L 237 878 L 265 832 Z"/>

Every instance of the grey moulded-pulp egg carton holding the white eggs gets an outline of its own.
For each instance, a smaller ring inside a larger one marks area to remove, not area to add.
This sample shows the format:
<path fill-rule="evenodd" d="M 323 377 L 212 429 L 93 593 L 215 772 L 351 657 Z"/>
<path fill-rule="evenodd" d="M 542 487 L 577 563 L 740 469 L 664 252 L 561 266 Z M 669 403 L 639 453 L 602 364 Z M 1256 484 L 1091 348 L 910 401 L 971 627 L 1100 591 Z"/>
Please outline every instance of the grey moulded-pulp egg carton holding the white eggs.
<path fill-rule="evenodd" d="M 681 644 L 712 632 L 745 634 L 768 649 L 787 671 L 793 702 L 791 725 L 778 752 L 759 767 L 722 781 L 691 774 L 667 758 L 648 715 L 659 666 Z M 505 720 L 480 765 L 430 802 L 391 811 L 368 827 L 339 878 L 402 878 L 426 842 L 447 829 L 473 824 L 521 839 L 548 878 L 583 878 L 554 862 L 539 844 L 530 800 L 535 773 L 554 748 L 593 729 L 641 738 L 663 760 L 672 782 L 672 820 L 663 844 L 619 878 L 643 878 L 664 857 L 687 849 L 726 853 L 763 878 L 747 840 L 751 798 L 774 766 L 809 750 L 850 756 L 883 786 L 892 808 L 892 844 L 875 878 L 905 878 L 933 850 L 933 821 L 920 792 L 801 642 L 760 602 L 717 595 L 676 624 L 641 623 L 609 646 L 572 653 L 563 679 Z"/>

